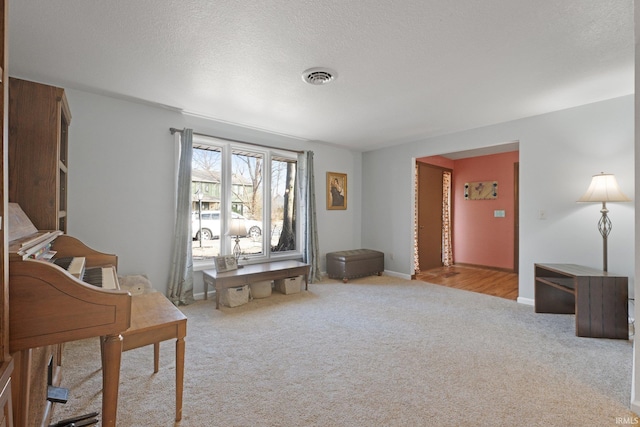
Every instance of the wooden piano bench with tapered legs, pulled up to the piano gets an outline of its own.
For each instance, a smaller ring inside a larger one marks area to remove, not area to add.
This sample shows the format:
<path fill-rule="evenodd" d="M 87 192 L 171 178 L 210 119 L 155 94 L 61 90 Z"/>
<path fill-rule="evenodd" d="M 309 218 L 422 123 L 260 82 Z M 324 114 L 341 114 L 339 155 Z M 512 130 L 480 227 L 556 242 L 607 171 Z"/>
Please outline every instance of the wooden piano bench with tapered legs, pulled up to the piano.
<path fill-rule="evenodd" d="M 131 327 L 122 333 L 122 351 L 153 344 L 153 372 L 158 372 L 160 342 L 176 340 L 176 421 L 182 419 L 184 337 L 187 317 L 160 292 L 131 298 Z"/>

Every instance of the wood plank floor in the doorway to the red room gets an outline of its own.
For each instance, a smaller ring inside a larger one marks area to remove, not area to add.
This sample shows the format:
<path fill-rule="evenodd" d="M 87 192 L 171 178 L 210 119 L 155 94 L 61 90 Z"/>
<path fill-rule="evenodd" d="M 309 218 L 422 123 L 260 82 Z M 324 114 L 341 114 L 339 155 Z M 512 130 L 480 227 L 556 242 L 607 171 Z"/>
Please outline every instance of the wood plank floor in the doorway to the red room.
<path fill-rule="evenodd" d="M 500 298 L 518 298 L 518 275 L 477 267 L 452 266 L 422 271 L 417 280 Z"/>

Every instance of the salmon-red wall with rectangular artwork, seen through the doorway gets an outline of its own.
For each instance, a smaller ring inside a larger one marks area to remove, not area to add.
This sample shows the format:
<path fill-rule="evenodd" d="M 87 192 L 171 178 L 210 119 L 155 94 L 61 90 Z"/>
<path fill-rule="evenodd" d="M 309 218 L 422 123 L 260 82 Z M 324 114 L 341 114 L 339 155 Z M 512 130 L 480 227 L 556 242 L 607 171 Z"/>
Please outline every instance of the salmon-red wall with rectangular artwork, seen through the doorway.
<path fill-rule="evenodd" d="M 514 268 L 514 164 L 519 153 L 492 154 L 454 161 L 453 260 L 504 269 Z M 465 200 L 467 182 L 497 181 L 494 200 Z M 494 211 L 504 210 L 504 218 Z"/>

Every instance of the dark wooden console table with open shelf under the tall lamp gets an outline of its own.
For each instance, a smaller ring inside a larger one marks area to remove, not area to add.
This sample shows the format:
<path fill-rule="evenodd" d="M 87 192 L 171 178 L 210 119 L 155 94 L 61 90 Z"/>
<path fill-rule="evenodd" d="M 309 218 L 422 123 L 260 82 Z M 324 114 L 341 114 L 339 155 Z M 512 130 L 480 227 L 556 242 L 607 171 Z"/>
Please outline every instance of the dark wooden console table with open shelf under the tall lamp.
<path fill-rule="evenodd" d="M 629 339 L 628 279 L 576 264 L 535 264 L 536 313 L 576 315 L 576 335 Z"/>

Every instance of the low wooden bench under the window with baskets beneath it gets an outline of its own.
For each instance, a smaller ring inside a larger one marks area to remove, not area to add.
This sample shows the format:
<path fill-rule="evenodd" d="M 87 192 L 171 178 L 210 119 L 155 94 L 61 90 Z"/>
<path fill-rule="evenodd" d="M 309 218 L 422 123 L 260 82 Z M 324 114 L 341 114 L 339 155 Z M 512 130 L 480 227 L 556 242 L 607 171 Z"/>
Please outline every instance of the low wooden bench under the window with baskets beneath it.
<path fill-rule="evenodd" d="M 305 290 L 309 289 L 309 264 L 300 261 L 274 261 L 245 265 L 232 271 L 218 273 L 216 270 L 204 270 L 204 299 L 207 299 L 209 286 L 216 290 L 216 309 L 220 308 L 220 293 L 223 289 L 243 286 L 262 280 L 286 279 L 304 275 Z"/>

